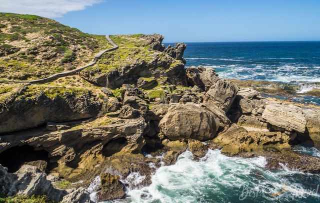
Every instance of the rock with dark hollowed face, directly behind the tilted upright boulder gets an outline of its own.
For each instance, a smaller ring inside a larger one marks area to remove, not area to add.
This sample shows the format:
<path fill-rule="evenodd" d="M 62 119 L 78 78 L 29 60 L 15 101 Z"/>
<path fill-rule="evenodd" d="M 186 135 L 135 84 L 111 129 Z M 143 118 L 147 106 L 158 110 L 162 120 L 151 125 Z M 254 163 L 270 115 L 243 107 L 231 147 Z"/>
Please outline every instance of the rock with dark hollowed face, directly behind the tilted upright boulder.
<path fill-rule="evenodd" d="M 191 66 L 186 69 L 186 77 L 188 84 L 197 86 L 202 91 L 207 91 L 219 78 L 212 68 L 205 68 L 203 66 Z"/>

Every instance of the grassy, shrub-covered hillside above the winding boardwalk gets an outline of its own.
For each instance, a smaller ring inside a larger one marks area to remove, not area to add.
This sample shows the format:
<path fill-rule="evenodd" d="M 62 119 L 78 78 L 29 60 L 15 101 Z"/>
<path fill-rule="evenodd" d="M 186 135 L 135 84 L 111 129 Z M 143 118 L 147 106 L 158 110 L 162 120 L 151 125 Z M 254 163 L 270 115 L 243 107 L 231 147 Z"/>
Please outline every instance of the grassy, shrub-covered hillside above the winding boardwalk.
<path fill-rule="evenodd" d="M 0 80 L 31 80 L 71 70 L 109 47 L 104 35 L 36 15 L 0 13 Z"/>

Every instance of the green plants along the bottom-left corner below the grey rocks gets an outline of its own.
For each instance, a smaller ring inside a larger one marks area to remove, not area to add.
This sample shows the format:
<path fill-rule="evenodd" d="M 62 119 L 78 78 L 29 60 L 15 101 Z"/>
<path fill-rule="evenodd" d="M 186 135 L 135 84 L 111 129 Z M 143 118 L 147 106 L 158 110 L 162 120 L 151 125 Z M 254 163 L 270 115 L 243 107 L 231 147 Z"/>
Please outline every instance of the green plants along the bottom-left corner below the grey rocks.
<path fill-rule="evenodd" d="M 0 203 L 54 203 L 47 199 L 46 196 L 27 197 L 24 195 L 16 195 L 13 197 L 0 197 Z"/>

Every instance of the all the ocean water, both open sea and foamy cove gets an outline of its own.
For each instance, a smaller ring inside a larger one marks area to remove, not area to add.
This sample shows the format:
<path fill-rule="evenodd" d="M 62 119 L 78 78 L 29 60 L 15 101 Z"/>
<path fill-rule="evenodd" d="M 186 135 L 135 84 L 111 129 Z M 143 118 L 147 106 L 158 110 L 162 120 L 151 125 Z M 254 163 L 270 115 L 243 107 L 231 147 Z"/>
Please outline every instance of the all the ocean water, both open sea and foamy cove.
<path fill-rule="evenodd" d="M 212 67 L 222 78 L 320 82 L 320 42 L 187 43 L 184 57 L 186 66 Z M 296 101 L 303 99 L 320 104 L 314 97 L 302 97 Z M 297 146 L 294 150 L 320 157 L 320 151 L 315 148 Z M 320 175 L 302 173 L 284 165 L 281 170 L 270 170 L 265 165 L 264 157 L 227 157 L 219 150 L 209 150 L 205 157 L 195 161 L 186 151 L 174 165 L 157 169 L 150 186 L 127 188 L 126 199 L 111 202 L 320 202 Z M 137 183 L 144 177 L 132 174 L 129 178 L 122 181 Z"/>

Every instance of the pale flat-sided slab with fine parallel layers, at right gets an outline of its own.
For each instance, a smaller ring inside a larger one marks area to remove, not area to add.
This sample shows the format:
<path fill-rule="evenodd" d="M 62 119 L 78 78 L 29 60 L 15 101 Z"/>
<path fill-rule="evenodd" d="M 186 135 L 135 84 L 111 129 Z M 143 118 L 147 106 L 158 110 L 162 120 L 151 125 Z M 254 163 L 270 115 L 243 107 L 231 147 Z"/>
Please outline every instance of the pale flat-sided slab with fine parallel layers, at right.
<path fill-rule="evenodd" d="M 262 120 L 286 131 L 304 133 L 306 121 L 302 109 L 291 104 L 269 104 L 265 106 Z"/>

